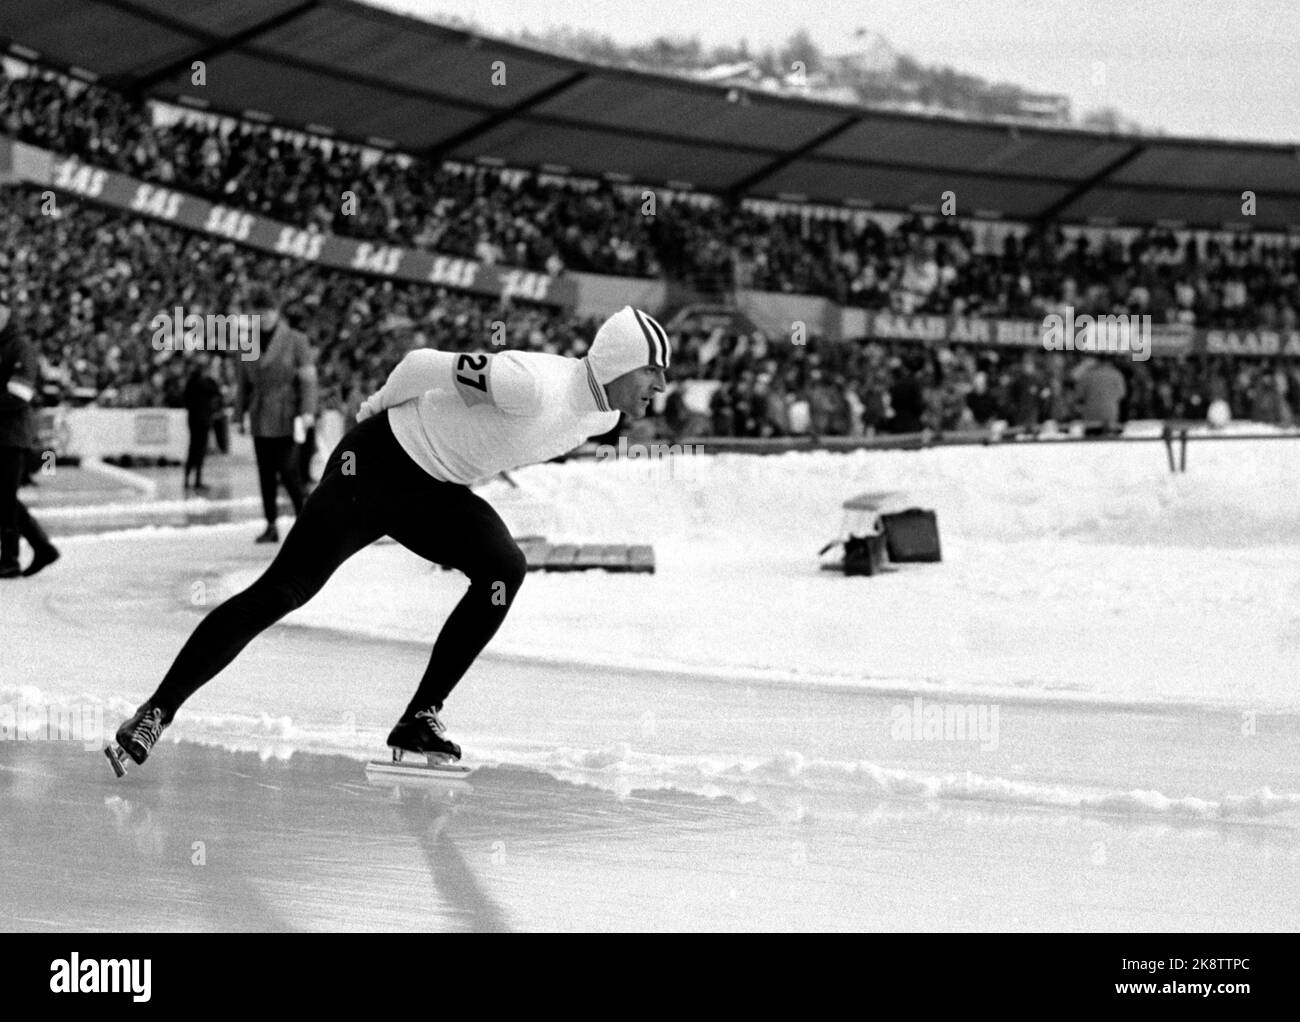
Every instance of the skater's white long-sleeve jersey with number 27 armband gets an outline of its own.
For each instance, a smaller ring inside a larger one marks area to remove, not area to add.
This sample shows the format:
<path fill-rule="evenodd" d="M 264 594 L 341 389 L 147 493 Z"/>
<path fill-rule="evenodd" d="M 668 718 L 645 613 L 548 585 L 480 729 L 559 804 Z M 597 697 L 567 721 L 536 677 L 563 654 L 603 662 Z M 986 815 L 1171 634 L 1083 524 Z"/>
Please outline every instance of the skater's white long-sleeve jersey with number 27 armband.
<path fill-rule="evenodd" d="M 356 419 L 382 411 L 417 465 L 465 486 L 558 458 L 619 423 L 586 359 L 536 351 L 412 351 Z"/>

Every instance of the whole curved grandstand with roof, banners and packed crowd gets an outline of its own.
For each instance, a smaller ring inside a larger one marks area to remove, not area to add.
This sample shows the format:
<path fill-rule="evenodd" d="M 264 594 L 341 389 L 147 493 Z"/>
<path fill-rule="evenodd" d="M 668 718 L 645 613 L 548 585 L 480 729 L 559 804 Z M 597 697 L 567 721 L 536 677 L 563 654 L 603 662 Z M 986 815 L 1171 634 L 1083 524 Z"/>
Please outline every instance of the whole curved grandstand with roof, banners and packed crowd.
<path fill-rule="evenodd" d="M 1150 317 L 1124 420 L 1300 412 L 1294 147 L 749 92 L 344 0 L 20 0 L 0 42 L 4 272 L 52 403 L 177 406 L 142 309 L 272 282 L 344 412 L 411 347 L 581 354 L 628 302 L 681 352 L 672 437 L 1069 423 L 1065 306 Z"/>

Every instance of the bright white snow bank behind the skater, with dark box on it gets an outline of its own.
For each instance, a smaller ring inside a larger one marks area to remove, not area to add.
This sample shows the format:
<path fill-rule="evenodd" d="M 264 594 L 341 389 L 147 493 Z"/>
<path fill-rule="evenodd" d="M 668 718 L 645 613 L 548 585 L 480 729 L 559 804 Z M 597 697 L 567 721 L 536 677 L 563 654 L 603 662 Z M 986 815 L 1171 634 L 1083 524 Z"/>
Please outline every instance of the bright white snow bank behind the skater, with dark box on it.
<path fill-rule="evenodd" d="M 516 534 L 649 542 L 654 576 L 534 573 L 493 655 L 1001 698 L 1300 705 L 1300 446 L 1160 443 L 577 462 L 481 490 Z M 818 570 L 840 503 L 902 490 L 944 563 Z M 256 572 L 226 579 L 230 592 Z M 290 623 L 432 641 L 464 590 L 403 549 Z"/>

